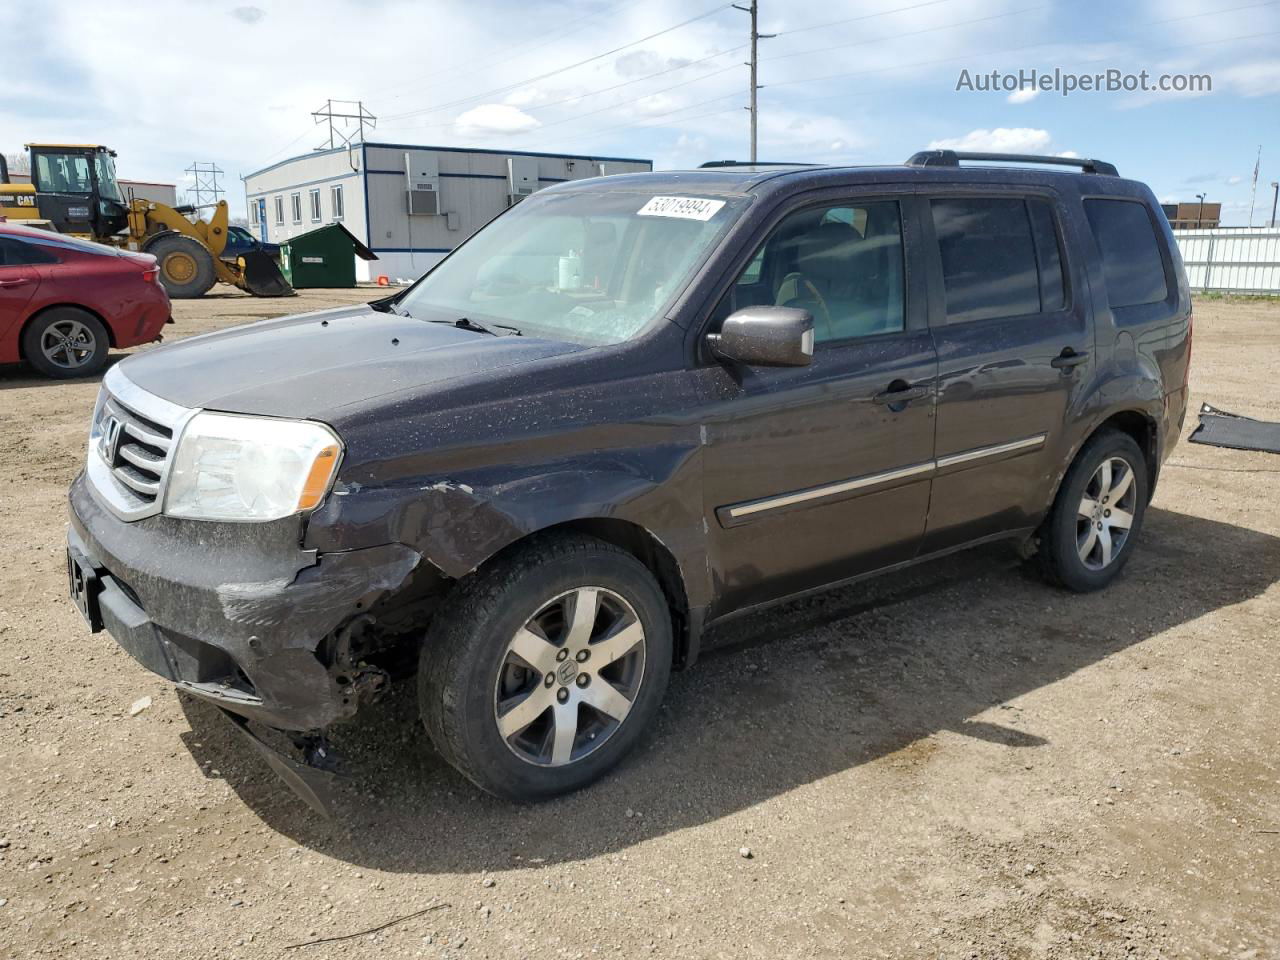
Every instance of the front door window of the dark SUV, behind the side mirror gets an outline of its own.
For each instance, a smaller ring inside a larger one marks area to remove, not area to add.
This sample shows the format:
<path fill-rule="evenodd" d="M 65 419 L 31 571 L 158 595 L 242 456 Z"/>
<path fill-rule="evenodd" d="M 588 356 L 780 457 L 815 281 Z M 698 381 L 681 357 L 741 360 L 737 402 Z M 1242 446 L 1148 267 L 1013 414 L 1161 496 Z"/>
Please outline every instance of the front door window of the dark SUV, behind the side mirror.
<path fill-rule="evenodd" d="M 772 303 L 813 314 L 819 343 L 904 328 L 897 201 L 808 207 L 765 238 L 718 311 Z"/>

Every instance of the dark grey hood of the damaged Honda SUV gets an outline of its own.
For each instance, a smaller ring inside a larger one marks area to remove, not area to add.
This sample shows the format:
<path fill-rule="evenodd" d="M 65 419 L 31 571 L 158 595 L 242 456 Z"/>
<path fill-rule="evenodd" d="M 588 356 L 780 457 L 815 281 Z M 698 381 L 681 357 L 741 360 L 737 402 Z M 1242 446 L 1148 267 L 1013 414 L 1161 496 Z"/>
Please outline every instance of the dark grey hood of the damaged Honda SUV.
<path fill-rule="evenodd" d="M 579 349 L 361 305 L 192 337 L 120 366 L 142 389 L 184 407 L 324 420 L 348 403 Z"/>

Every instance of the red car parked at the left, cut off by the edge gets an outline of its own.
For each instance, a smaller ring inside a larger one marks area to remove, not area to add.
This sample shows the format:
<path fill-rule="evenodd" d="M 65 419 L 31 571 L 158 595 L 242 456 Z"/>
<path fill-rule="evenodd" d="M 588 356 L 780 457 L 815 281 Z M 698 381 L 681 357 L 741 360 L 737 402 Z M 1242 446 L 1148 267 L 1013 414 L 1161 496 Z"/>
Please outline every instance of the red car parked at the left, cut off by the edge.
<path fill-rule="evenodd" d="M 150 253 L 0 220 L 0 364 L 90 376 L 111 347 L 160 339 L 169 294 Z"/>

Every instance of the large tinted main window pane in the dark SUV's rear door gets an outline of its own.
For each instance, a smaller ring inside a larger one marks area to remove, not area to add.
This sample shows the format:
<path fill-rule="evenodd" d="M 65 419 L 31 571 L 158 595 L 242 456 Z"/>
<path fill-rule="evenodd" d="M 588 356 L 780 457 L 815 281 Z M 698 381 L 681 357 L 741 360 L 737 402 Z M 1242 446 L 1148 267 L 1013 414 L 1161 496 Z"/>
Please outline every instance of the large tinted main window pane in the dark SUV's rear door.
<path fill-rule="evenodd" d="M 1024 200 L 934 200 L 947 320 L 1038 314 L 1039 269 Z M 1059 268 L 1061 276 L 1061 266 Z"/>

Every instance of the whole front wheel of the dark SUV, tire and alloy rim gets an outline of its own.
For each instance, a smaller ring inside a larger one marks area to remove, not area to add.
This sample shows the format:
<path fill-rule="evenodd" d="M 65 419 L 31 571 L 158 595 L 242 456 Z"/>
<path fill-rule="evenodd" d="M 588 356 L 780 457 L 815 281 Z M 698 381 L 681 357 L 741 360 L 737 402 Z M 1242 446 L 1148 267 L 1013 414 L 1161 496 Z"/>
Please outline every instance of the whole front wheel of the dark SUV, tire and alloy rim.
<path fill-rule="evenodd" d="M 539 800 L 599 778 L 653 721 L 671 612 L 635 557 L 586 536 L 534 540 L 435 616 L 419 705 L 443 756 L 483 790 Z"/>

